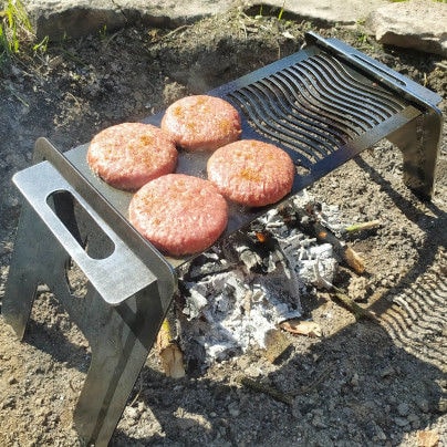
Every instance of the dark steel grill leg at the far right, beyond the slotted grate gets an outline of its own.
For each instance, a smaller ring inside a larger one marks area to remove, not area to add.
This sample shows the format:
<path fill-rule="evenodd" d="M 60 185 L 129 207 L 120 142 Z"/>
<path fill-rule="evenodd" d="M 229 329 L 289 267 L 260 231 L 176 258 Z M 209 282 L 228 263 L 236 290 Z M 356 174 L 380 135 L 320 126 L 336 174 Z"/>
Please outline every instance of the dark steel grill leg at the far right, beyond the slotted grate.
<path fill-rule="evenodd" d="M 434 191 L 441 126 L 440 113 L 429 110 L 387 137 L 403 152 L 405 185 L 423 199 Z"/>

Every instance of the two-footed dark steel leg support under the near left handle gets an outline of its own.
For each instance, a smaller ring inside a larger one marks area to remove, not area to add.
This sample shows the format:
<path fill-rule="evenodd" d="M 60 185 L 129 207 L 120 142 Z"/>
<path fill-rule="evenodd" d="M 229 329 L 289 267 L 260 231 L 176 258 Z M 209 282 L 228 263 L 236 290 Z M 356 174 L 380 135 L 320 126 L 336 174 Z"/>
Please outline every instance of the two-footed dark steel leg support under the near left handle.
<path fill-rule="evenodd" d="M 92 350 L 74 414 L 76 430 L 86 443 L 106 446 L 156 339 L 166 302 L 160 300 L 157 282 L 115 306 L 104 301 L 91 283 L 84 298 L 74 297 L 66 280 L 69 261 L 60 241 L 24 204 L 2 314 L 21 339 L 37 285 L 44 282 L 54 292 Z"/>

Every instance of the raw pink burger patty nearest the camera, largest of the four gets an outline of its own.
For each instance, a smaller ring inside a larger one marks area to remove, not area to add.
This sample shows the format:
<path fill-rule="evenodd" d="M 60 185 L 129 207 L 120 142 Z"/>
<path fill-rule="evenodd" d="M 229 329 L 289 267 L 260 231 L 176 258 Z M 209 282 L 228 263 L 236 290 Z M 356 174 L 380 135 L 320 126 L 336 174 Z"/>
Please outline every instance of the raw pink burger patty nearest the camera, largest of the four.
<path fill-rule="evenodd" d="M 156 248 L 184 256 L 210 247 L 227 227 L 226 199 L 208 180 L 168 174 L 132 198 L 131 224 Z"/>

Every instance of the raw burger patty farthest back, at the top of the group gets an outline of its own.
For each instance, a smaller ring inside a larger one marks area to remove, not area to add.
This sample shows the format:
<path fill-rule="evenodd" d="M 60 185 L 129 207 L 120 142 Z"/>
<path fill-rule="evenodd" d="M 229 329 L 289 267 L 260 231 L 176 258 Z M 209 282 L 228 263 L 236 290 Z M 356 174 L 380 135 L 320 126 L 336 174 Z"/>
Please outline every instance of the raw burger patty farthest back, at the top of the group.
<path fill-rule="evenodd" d="M 227 101 L 193 95 L 166 110 L 162 128 L 186 150 L 215 150 L 239 139 L 241 122 L 238 111 Z"/>

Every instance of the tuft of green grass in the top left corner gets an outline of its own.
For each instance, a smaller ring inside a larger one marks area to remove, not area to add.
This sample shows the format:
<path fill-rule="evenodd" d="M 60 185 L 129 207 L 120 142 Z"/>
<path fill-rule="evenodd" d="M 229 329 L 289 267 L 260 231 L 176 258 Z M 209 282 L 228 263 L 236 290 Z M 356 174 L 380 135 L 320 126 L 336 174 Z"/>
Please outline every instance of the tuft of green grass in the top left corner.
<path fill-rule="evenodd" d="M 27 10 L 20 0 L 3 2 L 0 11 L 0 58 L 18 53 L 22 40 L 32 37 Z"/>

